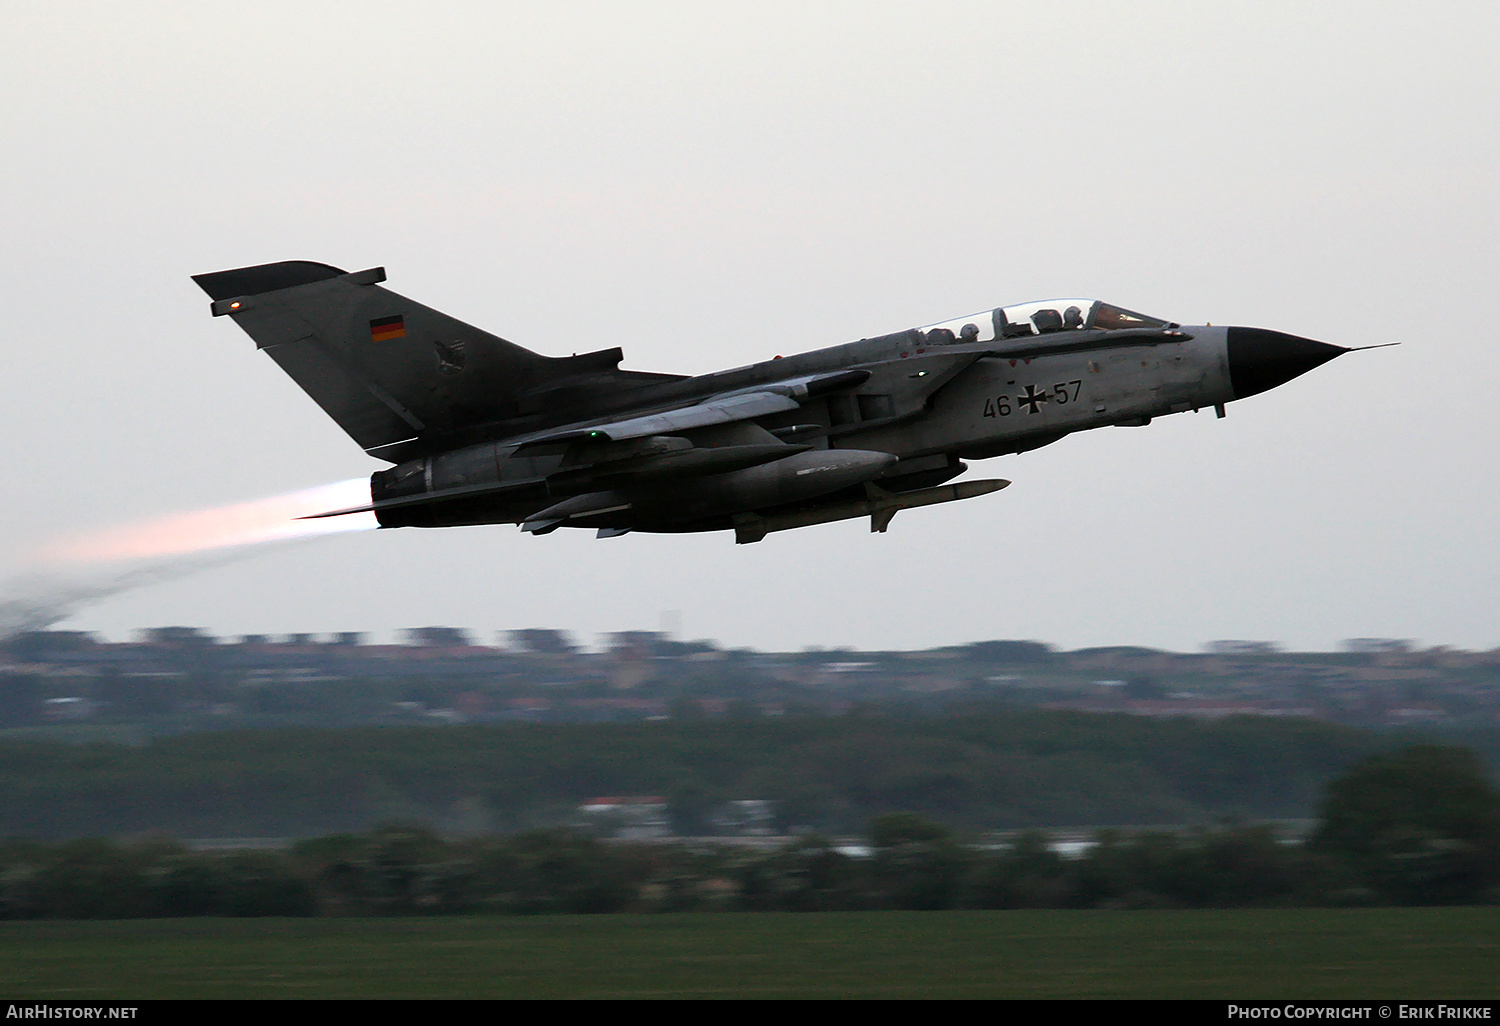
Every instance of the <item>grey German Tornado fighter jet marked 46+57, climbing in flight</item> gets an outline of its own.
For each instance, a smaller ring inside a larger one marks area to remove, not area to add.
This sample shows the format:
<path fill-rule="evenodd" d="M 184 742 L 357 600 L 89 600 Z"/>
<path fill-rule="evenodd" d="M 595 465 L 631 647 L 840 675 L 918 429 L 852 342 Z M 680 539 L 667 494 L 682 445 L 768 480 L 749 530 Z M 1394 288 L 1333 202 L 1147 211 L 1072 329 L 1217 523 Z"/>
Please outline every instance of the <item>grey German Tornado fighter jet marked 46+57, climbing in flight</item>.
<path fill-rule="evenodd" d="M 381 526 L 771 531 L 974 498 L 963 460 L 1214 408 L 1347 348 L 1184 327 L 1098 300 L 981 310 L 696 376 L 618 348 L 546 357 L 380 286 L 384 268 L 284 261 L 195 274 L 358 446 Z M 950 483 L 952 482 L 952 483 Z"/>

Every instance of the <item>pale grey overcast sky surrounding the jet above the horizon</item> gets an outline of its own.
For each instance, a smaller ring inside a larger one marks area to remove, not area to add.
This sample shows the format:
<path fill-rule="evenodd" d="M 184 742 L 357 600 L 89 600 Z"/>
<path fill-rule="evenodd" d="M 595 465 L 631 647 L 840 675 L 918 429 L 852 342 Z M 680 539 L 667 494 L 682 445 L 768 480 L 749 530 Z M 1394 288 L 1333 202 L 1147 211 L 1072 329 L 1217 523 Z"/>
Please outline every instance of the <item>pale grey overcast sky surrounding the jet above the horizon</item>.
<path fill-rule="evenodd" d="M 189 274 L 225 267 L 384 266 L 520 345 L 681 374 L 1054 296 L 1404 342 L 1226 420 L 978 464 L 1014 484 L 884 536 L 366 531 L 63 627 L 1500 645 L 1494 3 L 8 0 L 4 22 L 0 570 L 384 466 L 208 315 Z"/>

